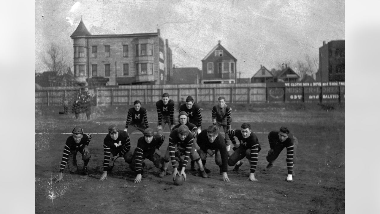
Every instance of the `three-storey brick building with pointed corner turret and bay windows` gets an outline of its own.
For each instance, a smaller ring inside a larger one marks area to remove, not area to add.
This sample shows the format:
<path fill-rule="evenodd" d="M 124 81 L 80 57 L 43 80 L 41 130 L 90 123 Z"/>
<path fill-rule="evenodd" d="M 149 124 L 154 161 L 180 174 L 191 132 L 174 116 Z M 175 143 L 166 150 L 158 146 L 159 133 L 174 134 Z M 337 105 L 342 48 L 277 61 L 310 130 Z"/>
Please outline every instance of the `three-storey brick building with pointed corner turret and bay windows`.
<path fill-rule="evenodd" d="M 156 33 L 91 35 L 81 20 L 70 37 L 78 85 L 165 84 L 169 77 L 171 50 L 160 29 Z"/>

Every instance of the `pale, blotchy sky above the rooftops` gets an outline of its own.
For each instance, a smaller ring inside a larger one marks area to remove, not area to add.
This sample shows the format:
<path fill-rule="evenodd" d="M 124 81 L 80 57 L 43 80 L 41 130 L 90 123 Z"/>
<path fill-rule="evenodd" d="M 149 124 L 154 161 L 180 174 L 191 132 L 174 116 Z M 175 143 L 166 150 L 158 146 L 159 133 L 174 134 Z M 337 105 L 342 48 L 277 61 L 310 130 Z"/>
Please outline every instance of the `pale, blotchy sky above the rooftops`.
<path fill-rule="evenodd" d="M 323 41 L 345 40 L 345 1 L 321 0 L 36 0 L 35 70 L 46 71 L 50 43 L 64 48 L 81 20 L 92 35 L 157 32 L 177 67 L 198 67 L 218 40 L 237 59 L 241 78 L 260 65 L 318 61 Z M 293 67 L 296 70 L 297 68 Z"/>

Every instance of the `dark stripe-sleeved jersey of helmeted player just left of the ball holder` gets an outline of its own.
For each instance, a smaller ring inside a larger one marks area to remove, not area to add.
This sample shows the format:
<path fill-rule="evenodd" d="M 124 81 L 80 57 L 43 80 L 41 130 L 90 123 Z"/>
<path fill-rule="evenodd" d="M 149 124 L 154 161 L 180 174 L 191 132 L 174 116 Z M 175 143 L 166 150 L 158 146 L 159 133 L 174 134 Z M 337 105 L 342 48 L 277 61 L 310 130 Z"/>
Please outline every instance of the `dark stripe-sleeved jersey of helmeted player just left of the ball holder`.
<path fill-rule="evenodd" d="M 153 136 L 152 142 L 148 144 L 145 141 L 145 137 L 140 137 L 137 141 L 137 147 L 135 149 L 136 152 L 136 172 L 137 174 L 141 174 L 141 168 L 142 168 L 142 155 L 144 153 L 149 152 L 151 149 L 158 149 L 160 150 L 161 145 L 163 144 L 165 140 L 165 136 L 163 134 L 155 135 Z"/>

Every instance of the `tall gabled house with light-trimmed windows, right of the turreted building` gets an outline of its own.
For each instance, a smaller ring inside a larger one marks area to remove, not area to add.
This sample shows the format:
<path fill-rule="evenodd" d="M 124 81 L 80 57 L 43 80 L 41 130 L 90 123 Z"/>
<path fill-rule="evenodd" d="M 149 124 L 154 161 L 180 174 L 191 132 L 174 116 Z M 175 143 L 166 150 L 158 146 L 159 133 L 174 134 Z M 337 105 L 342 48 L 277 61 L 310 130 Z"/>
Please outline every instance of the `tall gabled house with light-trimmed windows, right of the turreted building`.
<path fill-rule="evenodd" d="M 237 59 L 220 44 L 220 40 L 201 61 L 201 83 L 236 83 Z"/>

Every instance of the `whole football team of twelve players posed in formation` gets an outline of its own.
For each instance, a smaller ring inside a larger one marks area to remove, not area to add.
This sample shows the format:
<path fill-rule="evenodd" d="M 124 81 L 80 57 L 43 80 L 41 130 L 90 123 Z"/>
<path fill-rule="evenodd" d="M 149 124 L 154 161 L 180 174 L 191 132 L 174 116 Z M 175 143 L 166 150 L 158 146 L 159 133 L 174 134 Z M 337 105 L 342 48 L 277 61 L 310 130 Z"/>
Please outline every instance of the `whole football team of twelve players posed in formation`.
<path fill-rule="evenodd" d="M 103 141 L 104 161 L 100 180 L 107 179 L 107 173 L 111 173 L 114 162 L 119 157 L 123 157 L 130 169 L 136 171 L 135 183 L 141 182 L 145 159 L 149 159 L 156 168 L 160 169 L 159 177 L 172 174 L 174 182 L 176 176 L 180 176 L 182 181 L 186 180 L 185 169 L 189 160 L 192 171 L 196 171 L 195 163 L 198 166 L 195 176 L 207 178 L 210 170 L 206 168 L 206 158 L 209 155 L 210 157 L 215 156 L 215 164 L 219 166 L 223 181 L 230 181 L 227 175 L 228 166 L 234 166 L 233 171 L 239 171 L 244 157 L 247 158 L 250 165 L 248 180 L 258 181 L 255 178 L 258 153 L 261 150 L 258 138 L 252 132 L 249 123 L 243 123 L 240 129 L 231 129 L 232 109 L 226 105 L 225 97 L 218 97 L 218 104 L 212 107 L 211 111 L 213 125 L 203 130 L 201 107 L 194 102 L 192 96 L 188 96 L 186 102 L 179 105 L 179 124 L 174 126 L 174 101 L 169 99 L 168 93 L 162 94 L 160 101 L 156 102 L 157 134 L 154 134 L 154 130 L 149 128 L 147 111 L 141 107 L 141 102 L 136 100 L 133 105 L 133 108 L 128 109 L 124 130 L 120 130 L 116 124 L 108 127 L 108 134 Z M 166 123 L 170 130 L 169 144 L 165 154 L 161 155 L 160 147 L 165 141 L 162 131 Z M 220 127 L 223 127 L 224 137 L 219 133 Z M 136 129 L 141 131 L 143 136 L 138 139 L 137 147 L 132 152 L 129 136 Z M 63 181 L 63 170 L 66 165 L 70 172 L 77 171 L 76 155 L 78 152 L 81 153 L 84 162 L 83 174 L 88 175 L 87 164 L 91 157 L 89 152 L 91 138 L 92 135 L 83 133 L 81 127 L 76 126 L 73 129 L 72 135 L 66 140 L 59 177 L 55 182 Z M 279 131 L 269 133 L 268 141 L 270 150 L 266 155 L 268 165 L 264 168 L 264 172 L 268 172 L 272 168 L 274 161 L 286 147 L 288 176 L 285 180 L 293 182 L 297 138 L 282 126 Z M 231 143 L 234 145 L 232 153 L 230 153 Z M 168 170 L 169 162 L 171 162 L 172 171 Z"/>

